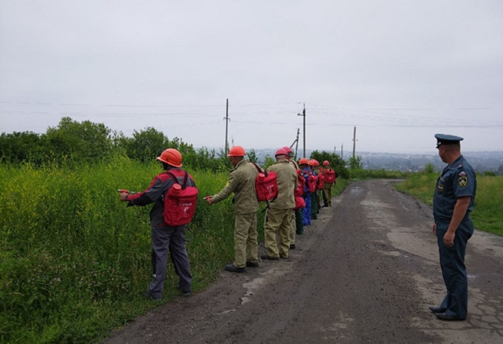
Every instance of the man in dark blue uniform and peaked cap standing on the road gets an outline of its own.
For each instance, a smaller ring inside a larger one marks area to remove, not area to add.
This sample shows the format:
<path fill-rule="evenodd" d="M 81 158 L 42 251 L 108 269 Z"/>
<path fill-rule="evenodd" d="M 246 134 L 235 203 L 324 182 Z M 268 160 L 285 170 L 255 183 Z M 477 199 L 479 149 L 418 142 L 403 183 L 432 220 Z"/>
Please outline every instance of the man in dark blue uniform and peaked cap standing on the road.
<path fill-rule="evenodd" d="M 475 171 L 461 155 L 460 141 L 453 135 L 436 134 L 438 155 L 448 164 L 437 180 L 433 197 L 433 234 L 437 235 L 440 267 L 447 289 L 439 307 L 429 309 L 438 319 L 464 320 L 468 308 L 468 280 L 464 253 L 473 234 L 473 211 L 477 180 Z"/>

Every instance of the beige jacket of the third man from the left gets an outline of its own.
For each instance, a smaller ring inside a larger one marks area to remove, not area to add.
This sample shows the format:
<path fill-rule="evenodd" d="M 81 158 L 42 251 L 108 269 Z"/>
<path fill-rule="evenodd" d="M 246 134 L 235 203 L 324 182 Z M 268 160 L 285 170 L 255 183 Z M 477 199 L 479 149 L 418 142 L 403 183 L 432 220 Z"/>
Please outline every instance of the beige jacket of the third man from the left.
<path fill-rule="evenodd" d="M 270 166 L 267 171 L 278 175 L 278 197 L 269 201 L 269 208 L 293 209 L 295 207 L 294 189 L 297 186 L 297 172 L 288 160 L 281 160 Z"/>

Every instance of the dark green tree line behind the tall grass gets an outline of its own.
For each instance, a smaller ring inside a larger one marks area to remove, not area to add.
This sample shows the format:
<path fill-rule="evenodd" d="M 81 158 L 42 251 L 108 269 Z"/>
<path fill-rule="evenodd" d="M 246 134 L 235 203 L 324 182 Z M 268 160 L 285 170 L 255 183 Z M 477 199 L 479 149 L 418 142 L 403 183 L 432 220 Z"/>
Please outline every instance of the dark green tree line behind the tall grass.
<path fill-rule="evenodd" d="M 31 131 L 1 133 L 0 162 L 20 164 L 28 162 L 34 166 L 44 164 L 94 164 L 114 154 L 127 155 L 130 159 L 152 162 L 164 149 L 172 147 L 183 155 L 185 166 L 194 170 L 225 171 L 231 168 L 225 152 L 206 147 L 194 149 L 192 144 L 179 138 L 170 140 L 162 131 L 147 127 L 133 131 L 132 137 L 112 131 L 103 123 L 89 120 L 78 122 L 63 117 L 56 127 L 45 133 Z M 247 158 L 257 162 L 254 149 L 247 149 Z M 320 163 L 329 160 L 338 174 L 347 175 L 346 162 L 340 155 L 326 151 L 311 153 L 312 159 Z M 274 158 L 265 158 L 265 167 L 274 164 Z"/>

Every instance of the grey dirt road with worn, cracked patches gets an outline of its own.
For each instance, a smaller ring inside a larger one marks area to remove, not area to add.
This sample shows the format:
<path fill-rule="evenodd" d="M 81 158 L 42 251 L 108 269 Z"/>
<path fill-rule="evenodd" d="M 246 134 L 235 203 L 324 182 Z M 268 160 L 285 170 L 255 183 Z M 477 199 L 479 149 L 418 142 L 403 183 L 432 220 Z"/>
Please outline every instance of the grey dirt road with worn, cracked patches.
<path fill-rule="evenodd" d="M 503 343 L 503 238 L 475 231 L 468 319 L 436 319 L 428 306 L 445 289 L 431 208 L 392 182 L 353 182 L 297 237 L 289 259 L 222 270 L 205 292 L 105 343 Z"/>

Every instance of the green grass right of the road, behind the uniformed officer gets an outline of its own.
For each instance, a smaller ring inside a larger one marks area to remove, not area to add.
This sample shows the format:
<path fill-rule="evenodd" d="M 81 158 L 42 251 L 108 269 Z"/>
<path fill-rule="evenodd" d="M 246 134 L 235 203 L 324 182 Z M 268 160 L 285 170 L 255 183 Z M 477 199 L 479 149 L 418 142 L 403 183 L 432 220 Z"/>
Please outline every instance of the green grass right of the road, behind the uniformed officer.
<path fill-rule="evenodd" d="M 431 206 L 437 178 L 435 173 L 415 173 L 396 184 L 396 189 Z M 475 228 L 503 235 L 503 177 L 477 175 L 477 194 L 471 218 Z"/>

